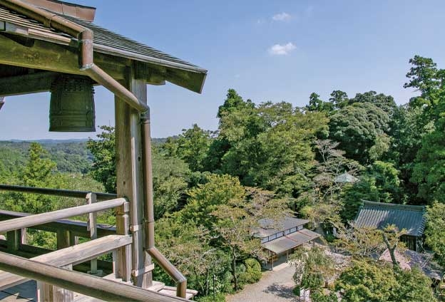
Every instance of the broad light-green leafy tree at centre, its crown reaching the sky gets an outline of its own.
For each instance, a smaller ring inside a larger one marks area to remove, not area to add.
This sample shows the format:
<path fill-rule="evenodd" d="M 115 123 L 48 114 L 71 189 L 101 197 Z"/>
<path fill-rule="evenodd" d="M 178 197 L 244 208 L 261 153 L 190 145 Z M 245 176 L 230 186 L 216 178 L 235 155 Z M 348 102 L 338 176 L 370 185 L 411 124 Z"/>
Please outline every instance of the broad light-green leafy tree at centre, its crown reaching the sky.
<path fill-rule="evenodd" d="M 327 130 L 326 121 L 322 113 L 302 113 L 290 103 L 233 111 L 220 122 L 230 145 L 222 170 L 247 186 L 296 194 L 314 164 L 310 141 Z"/>

